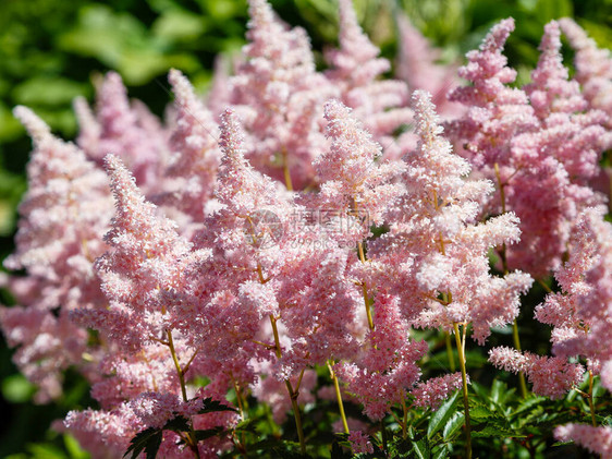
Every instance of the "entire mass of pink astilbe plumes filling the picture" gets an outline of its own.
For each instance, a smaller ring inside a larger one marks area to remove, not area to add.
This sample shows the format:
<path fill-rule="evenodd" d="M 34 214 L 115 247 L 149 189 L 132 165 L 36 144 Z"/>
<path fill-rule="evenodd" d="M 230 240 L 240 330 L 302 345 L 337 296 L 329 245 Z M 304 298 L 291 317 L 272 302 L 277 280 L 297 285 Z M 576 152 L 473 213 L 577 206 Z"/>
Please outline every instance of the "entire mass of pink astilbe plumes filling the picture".
<path fill-rule="evenodd" d="M 468 330 L 485 346 L 553 273 L 561 291 L 536 317 L 554 327 L 554 357 L 495 348 L 490 361 L 560 398 L 583 379 L 571 361 L 582 358 L 612 390 L 612 227 L 590 186 L 610 104 L 582 31 L 548 24 L 518 88 L 502 53 L 514 22 L 502 21 L 458 69 L 469 85 L 446 98 L 454 67 L 418 68 L 406 48 L 429 45 L 404 19 L 402 80 L 382 80 L 391 64 L 351 0 L 325 71 L 265 0 L 249 0 L 249 15 L 235 73 L 218 76 L 208 102 L 170 72 L 166 124 L 114 73 L 95 109 L 76 100 L 76 145 L 15 109 L 34 153 L 5 261 L 25 275 L 4 281 L 19 305 L 0 323 L 38 401 L 60 396 L 69 366 L 90 383 L 99 409 L 70 412 L 61 428 L 94 457 L 144 435 L 163 457 L 217 457 L 244 447 L 228 432 L 254 397 L 278 423 L 293 411 L 304 451 L 303 407 L 333 390 L 348 445 L 371 454 L 343 396 L 371 421 L 403 411 L 406 435 L 411 407 L 436 410 L 463 388 L 469 432 Z M 454 335 L 462 373 L 424 378 L 417 329 Z M 597 432 L 568 424 L 556 436 L 610 455 L 609 428 Z"/>

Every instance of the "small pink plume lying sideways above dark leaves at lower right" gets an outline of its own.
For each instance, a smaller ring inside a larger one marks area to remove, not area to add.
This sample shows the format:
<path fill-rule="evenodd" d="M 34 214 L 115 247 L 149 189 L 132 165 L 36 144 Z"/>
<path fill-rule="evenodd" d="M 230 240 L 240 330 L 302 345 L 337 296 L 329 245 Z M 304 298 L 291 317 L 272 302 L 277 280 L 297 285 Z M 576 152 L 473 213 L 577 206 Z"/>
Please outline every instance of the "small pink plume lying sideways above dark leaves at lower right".
<path fill-rule="evenodd" d="M 583 382 L 585 374 L 583 365 L 568 363 L 565 358 L 521 353 L 504 347 L 491 349 L 489 361 L 498 369 L 526 374 L 534 385 L 534 392 L 551 399 L 564 397 L 570 389 Z"/>

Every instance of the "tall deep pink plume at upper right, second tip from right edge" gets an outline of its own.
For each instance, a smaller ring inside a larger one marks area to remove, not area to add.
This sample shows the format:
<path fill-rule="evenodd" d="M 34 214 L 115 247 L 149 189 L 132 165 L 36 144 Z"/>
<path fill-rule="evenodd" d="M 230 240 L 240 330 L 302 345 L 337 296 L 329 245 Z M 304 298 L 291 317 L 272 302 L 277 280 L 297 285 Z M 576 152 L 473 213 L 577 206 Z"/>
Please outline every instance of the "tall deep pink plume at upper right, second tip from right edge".
<path fill-rule="evenodd" d="M 578 83 L 563 67 L 560 34 L 556 22 L 547 24 L 533 83 L 525 86 L 541 128 L 515 137 L 514 170 L 501 174 L 506 208 L 521 218 L 524 234 L 506 254 L 509 266 L 537 278 L 560 265 L 580 209 L 601 202 L 588 182 L 599 172 L 605 117 L 586 111 Z"/>

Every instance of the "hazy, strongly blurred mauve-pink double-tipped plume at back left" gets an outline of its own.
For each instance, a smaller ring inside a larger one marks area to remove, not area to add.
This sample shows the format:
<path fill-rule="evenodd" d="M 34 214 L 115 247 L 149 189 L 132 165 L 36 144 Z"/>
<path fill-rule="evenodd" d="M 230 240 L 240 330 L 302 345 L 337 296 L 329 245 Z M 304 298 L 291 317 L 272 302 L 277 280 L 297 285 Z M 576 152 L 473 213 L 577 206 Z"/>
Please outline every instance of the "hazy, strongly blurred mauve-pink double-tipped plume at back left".
<path fill-rule="evenodd" d="M 159 193 L 170 147 L 169 133 L 139 101 L 132 104 L 118 73 L 109 72 L 98 86 L 96 111 L 77 102 L 77 144 L 90 159 L 102 164 L 117 152 L 133 171 L 145 194 Z"/>

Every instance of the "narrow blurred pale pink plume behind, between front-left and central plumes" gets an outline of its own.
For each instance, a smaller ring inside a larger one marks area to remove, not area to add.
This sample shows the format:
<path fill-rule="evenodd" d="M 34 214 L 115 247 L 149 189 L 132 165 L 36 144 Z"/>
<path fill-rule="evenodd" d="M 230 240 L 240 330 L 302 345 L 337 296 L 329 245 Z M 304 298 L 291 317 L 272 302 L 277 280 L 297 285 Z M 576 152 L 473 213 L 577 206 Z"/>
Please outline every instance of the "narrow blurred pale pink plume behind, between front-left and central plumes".
<path fill-rule="evenodd" d="M 162 202 L 184 212 L 194 222 L 201 222 L 221 156 L 217 145 L 219 129 L 181 72 L 171 70 L 168 78 L 174 92 L 176 120 L 170 138 L 173 156 L 166 173 L 178 181 Z"/>

